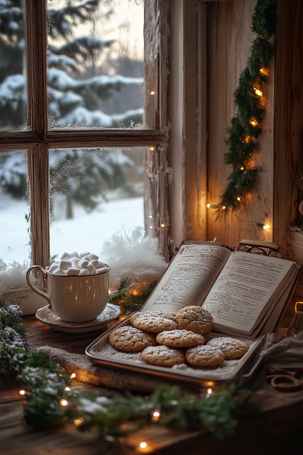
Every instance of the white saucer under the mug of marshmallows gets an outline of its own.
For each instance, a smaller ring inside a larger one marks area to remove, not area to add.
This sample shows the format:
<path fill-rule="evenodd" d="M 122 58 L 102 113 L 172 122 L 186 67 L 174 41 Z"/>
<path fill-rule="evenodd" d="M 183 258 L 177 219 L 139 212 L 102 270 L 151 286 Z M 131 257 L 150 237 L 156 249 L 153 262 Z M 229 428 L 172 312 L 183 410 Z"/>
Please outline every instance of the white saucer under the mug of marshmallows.
<path fill-rule="evenodd" d="M 104 311 L 99 314 L 96 319 L 93 321 L 84 322 L 82 324 L 74 324 L 71 322 L 62 321 L 62 319 L 58 318 L 58 316 L 56 316 L 53 311 L 50 310 L 48 305 L 39 308 L 35 316 L 38 321 L 42 322 L 43 324 L 47 324 L 53 329 L 59 330 L 60 332 L 81 334 L 84 332 L 93 332 L 94 330 L 98 330 L 102 325 L 119 318 L 120 314 L 120 307 L 114 305 L 113 303 L 107 303 Z"/>

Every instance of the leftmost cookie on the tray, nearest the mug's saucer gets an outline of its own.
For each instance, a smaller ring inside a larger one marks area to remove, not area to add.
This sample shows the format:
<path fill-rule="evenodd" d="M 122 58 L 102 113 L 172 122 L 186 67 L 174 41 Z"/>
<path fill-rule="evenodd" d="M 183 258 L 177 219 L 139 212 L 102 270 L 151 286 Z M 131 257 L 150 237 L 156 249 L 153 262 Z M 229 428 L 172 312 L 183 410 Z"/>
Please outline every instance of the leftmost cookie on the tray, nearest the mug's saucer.
<path fill-rule="evenodd" d="M 109 344 L 119 351 L 140 352 L 146 346 L 156 346 L 154 335 L 135 329 L 131 325 L 118 327 L 109 335 Z"/>

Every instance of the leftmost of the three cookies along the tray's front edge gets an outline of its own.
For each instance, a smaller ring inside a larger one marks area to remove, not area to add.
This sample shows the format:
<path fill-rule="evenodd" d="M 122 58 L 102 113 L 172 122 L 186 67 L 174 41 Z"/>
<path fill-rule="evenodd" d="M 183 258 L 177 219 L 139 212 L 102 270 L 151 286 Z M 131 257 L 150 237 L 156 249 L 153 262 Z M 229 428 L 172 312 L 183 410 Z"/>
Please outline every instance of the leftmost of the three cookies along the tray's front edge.
<path fill-rule="evenodd" d="M 185 362 L 184 353 L 168 346 L 148 346 L 141 352 L 141 357 L 148 364 L 172 367 Z"/>

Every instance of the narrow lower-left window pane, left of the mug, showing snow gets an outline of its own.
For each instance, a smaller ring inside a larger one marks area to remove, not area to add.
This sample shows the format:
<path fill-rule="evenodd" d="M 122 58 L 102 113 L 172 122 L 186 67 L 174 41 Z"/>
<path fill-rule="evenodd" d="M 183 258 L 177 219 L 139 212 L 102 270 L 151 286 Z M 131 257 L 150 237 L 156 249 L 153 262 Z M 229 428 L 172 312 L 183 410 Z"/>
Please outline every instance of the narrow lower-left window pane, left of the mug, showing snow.
<path fill-rule="evenodd" d="M 25 152 L 0 153 L 0 288 L 26 283 L 30 207 Z"/>

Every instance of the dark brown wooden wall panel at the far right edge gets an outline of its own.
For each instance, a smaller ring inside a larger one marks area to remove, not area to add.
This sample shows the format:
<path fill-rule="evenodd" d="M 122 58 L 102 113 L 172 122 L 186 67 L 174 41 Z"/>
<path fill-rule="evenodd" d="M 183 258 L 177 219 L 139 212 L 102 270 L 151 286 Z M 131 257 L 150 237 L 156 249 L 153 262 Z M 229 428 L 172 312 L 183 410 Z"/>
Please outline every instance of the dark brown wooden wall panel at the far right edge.
<path fill-rule="evenodd" d="M 295 186 L 303 172 L 303 2 L 278 0 L 277 15 L 273 239 L 285 257 L 303 262 L 302 229 L 289 228 L 303 224 L 298 220 L 303 192 Z"/>

